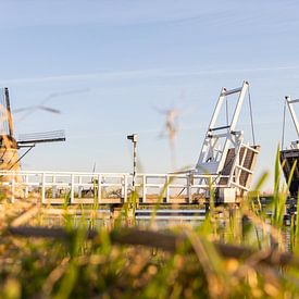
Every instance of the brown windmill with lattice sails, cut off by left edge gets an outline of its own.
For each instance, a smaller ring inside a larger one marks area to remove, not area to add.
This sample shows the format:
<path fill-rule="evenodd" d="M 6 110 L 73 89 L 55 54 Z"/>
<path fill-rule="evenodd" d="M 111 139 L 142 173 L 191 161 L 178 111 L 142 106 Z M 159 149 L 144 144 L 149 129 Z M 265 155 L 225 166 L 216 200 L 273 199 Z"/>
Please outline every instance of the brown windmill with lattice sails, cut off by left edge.
<path fill-rule="evenodd" d="M 13 132 L 10 95 L 0 88 L 0 170 L 20 170 L 20 161 L 41 142 L 65 141 L 64 130 L 23 134 L 16 139 Z M 18 149 L 26 151 L 18 157 Z"/>

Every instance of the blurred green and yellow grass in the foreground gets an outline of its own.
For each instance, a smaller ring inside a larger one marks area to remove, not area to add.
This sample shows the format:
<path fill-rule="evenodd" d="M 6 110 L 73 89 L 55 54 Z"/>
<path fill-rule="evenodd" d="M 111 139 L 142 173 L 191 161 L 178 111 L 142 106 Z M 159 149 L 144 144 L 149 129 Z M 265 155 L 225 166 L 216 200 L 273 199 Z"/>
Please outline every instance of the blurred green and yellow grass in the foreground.
<path fill-rule="evenodd" d="M 59 216 L 65 234 L 57 238 L 12 234 L 10 227 L 16 219 L 21 223 L 22 212 L 26 223 L 32 204 L 3 201 L 0 298 L 296 298 L 299 228 L 292 219 L 287 249 L 288 232 L 283 223 L 287 192 L 278 154 L 273 198 L 267 207 L 271 219 L 259 198 L 266 179 L 265 173 L 237 208 L 216 207 L 212 196 L 209 214 L 195 228 L 182 225 L 157 232 L 154 214 L 162 191 L 148 229 L 136 228 L 136 235 L 124 229 L 136 227 L 132 216 L 138 202 L 136 192 L 132 192 L 113 227 L 97 227 L 96 200 L 89 214 L 78 207 L 83 216 L 76 222 L 65 204 Z M 40 224 L 42 216 L 45 211 L 40 209 L 30 224 Z M 96 229 L 91 239 L 90 228 Z M 287 256 L 287 250 L 294 256 Z M 292 260 L 282 262 L 279 254 Z"/>

